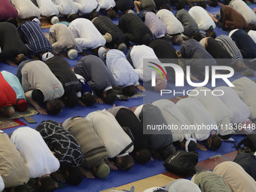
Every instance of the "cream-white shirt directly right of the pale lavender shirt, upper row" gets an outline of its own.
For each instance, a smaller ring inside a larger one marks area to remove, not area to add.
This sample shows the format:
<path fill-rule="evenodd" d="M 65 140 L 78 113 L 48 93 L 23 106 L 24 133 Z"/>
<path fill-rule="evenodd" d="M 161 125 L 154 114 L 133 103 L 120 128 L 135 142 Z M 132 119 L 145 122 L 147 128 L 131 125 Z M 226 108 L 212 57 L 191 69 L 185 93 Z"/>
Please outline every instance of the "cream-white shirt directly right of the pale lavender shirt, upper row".
<path fill-rule="evenodd" d="M 181 22 L 167 9 L 161 9 L 157 11 L 157 17 L 163 22 L 167 28 L 169 35 L 175 35 L 184 32 L 184 28 Z"/>

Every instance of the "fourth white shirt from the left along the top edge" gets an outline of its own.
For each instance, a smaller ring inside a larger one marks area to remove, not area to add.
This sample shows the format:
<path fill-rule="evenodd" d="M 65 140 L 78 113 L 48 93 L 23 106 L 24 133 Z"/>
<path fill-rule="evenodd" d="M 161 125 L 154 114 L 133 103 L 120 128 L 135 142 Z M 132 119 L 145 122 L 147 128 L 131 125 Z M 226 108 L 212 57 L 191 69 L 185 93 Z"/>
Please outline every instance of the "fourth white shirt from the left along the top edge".
<path fill-rule="evenodd" d="M 93 11 L 93 9 L 97 8 L 99 5 L 96 0 L 73 0 L 75 5 L 78 7 L 78 10 L 81 14 L 90 14 L 90 12 Z M 96 9 L 96 12 L 98 12 L 100 9 L 100 6 Z"/>

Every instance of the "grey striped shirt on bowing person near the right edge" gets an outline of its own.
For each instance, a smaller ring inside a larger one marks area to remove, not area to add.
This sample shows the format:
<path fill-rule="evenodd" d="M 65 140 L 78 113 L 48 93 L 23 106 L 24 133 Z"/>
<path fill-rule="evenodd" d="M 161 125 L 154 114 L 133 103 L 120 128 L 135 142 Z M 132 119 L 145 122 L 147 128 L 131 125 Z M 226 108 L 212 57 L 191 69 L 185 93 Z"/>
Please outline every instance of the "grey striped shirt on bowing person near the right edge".
<path fill-rule="evenodd" d="M 219 35 L 215 38 L 221 46 L 227 50 L 227 53 L 230 53 L 232 58 L 231 65 L 233 66 L 237 62 L 241 62 L 243 57 L 242 53 L 240 52 L 239 48 L 236 46 L 236 43 L 232 40 L 232 38 L 228 37 L 227 35 Z"/>

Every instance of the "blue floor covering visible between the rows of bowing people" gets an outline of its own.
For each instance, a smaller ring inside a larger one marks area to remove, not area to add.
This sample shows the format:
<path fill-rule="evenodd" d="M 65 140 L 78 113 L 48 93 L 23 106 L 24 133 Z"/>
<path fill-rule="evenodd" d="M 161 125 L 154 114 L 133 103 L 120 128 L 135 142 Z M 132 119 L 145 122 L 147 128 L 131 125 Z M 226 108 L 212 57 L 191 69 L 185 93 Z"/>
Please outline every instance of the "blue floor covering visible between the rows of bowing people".
<path fill-rule="evenodd" d="M 250 5 L 250 7 L 254 8 L 255 6 Z M 221 8 L 221 6 L 218 6 L 216 8 L 208 7 L 208 8 L 206 8 L 206 10 L 212 14 L 217 14 L 217 12 L 219 11 L 220 8 Z M 172 12 L 175 13 L 175 11 L 172 11 Z M 118 22 L 118 18 L 114 20 L 114 23 L 117 23 L 117 22 Z M 48 32 L 48 31 L 49 31 L 49 29 L 44 29 L 44 32 Z M 217 33 L 217 35 L 221 35 L 221 34 L 227 35 L 227 32 L 223 31 L 222 29 L 219 29 L 218 26 L 216 27 L 215 32 Z M 179 48 L 179 46 L 174 46 L 174 47 L 176 50 L 178 50 L 178 48 Z M 74 67 L 76 62 L 78 62 L 78 59 L 81 59 L 81 57 L 82 56 L 79 55 L 78 58 L 75 60 L 68 59 L 70 66 Z M 17 69 L 17 67 L 8 66 L 8 64 L 0 62 L 0 71 L 6 70 L 8 72 L 12 72 L 15 74 L 16 69 Z M 233 77 L 230 78 L 230 81 L 233 81 L 236 78 L 241 78 L 241 77 L 242 77 L 242 75 L 240 75 L 238 72 L 236 72 L 235 75 L 233 75 Z M 251 79 L 255 80 L 255 78 L 251 78 Z M 222 85 L 226 85 L 224 83 L 224 81 L 219 80 L 216 82 L 216 87 L 222 86 Z M 212 88 L 210 83 L 207 84 L 206 87 Z M 163 97 L 160 97 L 160 93 L 154 92 L 148 84 L 145 84 L 145 88 L 147 89 L 147 92 L 145 92 L 146 96 L 144 98 L 130 99 L 128 102 L 116 101 L 114 104 L 117 106 L 125 105 L 127 107 L 133 107 L 133 106 L 141 105 L 143 102 L 152 102 L 157 99 L 163 99 Z M 176 91 L 181 91 L 181 90 L 190 90 L 190 89 L 193 89 L 193 87 L 190 87 L 188 84 L 185 84 L 185 87 L 182 87 L 182 88 L 175 87 L 174 81 L 172 80 L 172 78 L 169 78 L 166 89 L 169 89 L 169 90 L 175 89 Z M 166 95 L 165 98 L 169 99 L 169 98 L 177 97 L 177 96 L 179 96 L 179 95 L 173 96 L 172 94 L 170 94 L 170 95 Z M 42 120 L 56 120 L 56 122 L 62 123 L 68 117 L 72 117 L 75 115 L 81 115 L 81 116 L 85 117 L 91 111 L 102 110 L 103 108 L 106 108 L 106 109 L 111 108 L 111 105 L 95 104 L 91 107 L 81 107 L 80 105 L 77 105 L 75 108 L 63 108 L 62 112 L 57 116 L 50 115 L 50 114 L 48 114 L 48 115 L 37 114 L 33 117 L 35 118 L 35 120 L 38 123 L 41 123 Z M 23 120 L 23 118 L 21 118 L 20 120 L 22 120 L 24 123 L 26 123 L 26 121 Z M 38 123 L 29 124 L 29 126 L 32 128 L 35 128 L 38 125 Z M 16 129 L 17 129 L 17 127 L 14 127 L 14 128 L 4 130 L 4 132 L 10 134 Z M 244 136 L 236 135 L 236 136 L 233 136 L 233 139 L 235 139 L 236 143 L 237 143 L 243 137 Z M 217 151 L 210 151 L 210 150 L 209 151 L 199 151 L 199 153 L 200 153 L 199 161 L 206 160 L 209 157 L 213 157 L 217 154 L 226 154 L 231 151 L 234 151 L 233 144 L 228 143 L 228 142 L 223 142 L 223 145 Z M 104 189 L 107 189 L 110 187 L 117 187 L 117 186 L 120 186 L 123 184 L 137 181 L 142 178 L 147 178 L 152 175 L 157 175 L 162 172 L 166 172 L 166 169 L 163 167 L 163 161 L 154 160 L 152 162 L 147 163 L 144 166 L 135 164 L 135 166 L 133 166 L 133 168 L 128 172 L 122 172 L 120 170 L 111 171 L 108 178 L 105 178 L 105 179 L 84 178 L 82 183 L 76 187 L 71 187 L 71 186 L 67 185 L 66 187 L 56 190 L 56 191 L 58 191 L 58 192 L 68 192 L 68 191 L 69 192 L 70 191 L 96 192 L 96 191 L 104 190 Z M 142 191 L 136 191 L 136 192 L 142 192 Z"/>

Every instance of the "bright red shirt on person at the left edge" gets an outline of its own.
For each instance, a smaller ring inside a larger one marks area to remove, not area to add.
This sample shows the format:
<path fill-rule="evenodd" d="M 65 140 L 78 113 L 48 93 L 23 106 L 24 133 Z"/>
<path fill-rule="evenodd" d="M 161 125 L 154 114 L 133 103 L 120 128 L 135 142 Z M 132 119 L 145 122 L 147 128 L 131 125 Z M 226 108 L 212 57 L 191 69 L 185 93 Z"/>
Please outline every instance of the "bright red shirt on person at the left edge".
<path fill-rule="evenodd" d="M 15 105 L 16 102 L 17 98 L 14 89 L 5 81 L 5 78 L 0 72 L 0 107 Z"/>

